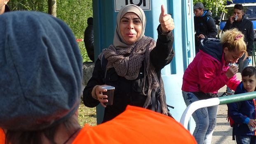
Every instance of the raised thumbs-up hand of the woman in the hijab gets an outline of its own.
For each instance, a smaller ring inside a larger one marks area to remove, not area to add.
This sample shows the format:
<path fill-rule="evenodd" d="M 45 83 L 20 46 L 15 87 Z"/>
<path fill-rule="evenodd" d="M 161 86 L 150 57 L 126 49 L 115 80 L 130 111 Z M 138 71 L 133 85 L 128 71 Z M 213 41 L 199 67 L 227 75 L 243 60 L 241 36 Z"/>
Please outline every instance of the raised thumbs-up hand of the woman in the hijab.
<path fill-rule="evenodd" d="M 161 6 L 161 14 L 159 16 L 162 33 L 167 34 L 174 29 L 174 21 L 170 14 L 165 14 L 164 5 Z"/>

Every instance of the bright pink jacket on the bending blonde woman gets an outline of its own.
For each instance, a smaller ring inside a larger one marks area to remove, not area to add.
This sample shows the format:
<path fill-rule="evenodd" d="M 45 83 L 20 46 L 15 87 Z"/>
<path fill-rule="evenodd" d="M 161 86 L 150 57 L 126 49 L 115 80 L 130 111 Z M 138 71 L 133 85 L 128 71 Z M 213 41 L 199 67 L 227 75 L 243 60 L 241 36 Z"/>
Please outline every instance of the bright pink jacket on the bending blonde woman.
<path fill-rule="evenodd" d="M 225 85 L 235 90 L 240 81 L 236 75 L 230 79 L 226 77 L 225 73 L 229 66 L 225 66 L 227 63 L 225 63 L 223 51 L 220 53 L 221 61 L 204 51 L 200 50 L 185 70 L 182 91 L 218 93 L 218 90 Z"/>

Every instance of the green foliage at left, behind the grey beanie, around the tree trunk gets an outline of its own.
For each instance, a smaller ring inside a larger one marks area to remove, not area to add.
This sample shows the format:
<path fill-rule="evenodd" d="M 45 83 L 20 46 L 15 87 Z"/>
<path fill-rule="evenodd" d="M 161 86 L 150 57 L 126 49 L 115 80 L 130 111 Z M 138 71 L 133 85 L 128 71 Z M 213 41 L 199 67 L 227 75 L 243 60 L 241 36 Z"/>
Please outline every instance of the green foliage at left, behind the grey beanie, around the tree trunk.
<path fill-rule="evenodd" d="M 12 11 L 29 10 L 48 12 L 48 0 L 10 0 Z M 65 21 L 76 39 L 84 39 L 87 18 L 92 17 L 92 0 L 57 0 L 57 18 Z M 84 42 L 78 42 L 84 61 L 90 61 Z"/>

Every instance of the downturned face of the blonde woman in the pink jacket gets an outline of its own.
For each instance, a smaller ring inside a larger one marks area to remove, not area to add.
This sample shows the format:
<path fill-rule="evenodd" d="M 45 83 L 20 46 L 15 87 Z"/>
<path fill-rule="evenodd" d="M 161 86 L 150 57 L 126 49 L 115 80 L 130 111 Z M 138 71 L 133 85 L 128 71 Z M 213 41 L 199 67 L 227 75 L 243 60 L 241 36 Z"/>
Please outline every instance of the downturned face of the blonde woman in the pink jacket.
<path fill-rule="evenodd" d="M 224 60 L 226 63 L 237 63 L 243 54 L 244 52 L 241 51 L 228 51 L 227 47 L 224 48 Z"/>

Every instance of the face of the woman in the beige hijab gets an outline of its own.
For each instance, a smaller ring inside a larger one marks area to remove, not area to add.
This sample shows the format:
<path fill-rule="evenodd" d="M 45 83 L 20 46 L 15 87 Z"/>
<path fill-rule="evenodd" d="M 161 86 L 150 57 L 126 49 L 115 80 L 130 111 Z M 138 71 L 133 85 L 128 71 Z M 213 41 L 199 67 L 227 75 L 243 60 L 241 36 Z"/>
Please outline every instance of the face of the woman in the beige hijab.
<path fill-rule="evenodd" d="M 120 21 L 120 33 L 127 44 L 136 42 L 142 31 L 141 19 L 133 12 L 127 12 Z"/>

